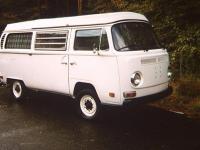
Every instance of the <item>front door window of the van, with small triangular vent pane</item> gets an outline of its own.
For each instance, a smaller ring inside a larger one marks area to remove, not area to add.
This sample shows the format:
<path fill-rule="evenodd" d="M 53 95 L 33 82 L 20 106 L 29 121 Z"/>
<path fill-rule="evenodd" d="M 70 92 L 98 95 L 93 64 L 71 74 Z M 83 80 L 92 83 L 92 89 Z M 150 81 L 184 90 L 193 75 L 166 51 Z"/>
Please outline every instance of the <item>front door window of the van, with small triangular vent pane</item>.
<path fill-rule="evenodd" d="M 74 50 L 92 51 L 108 48 L 108 39 L 105 30 L 88 29 L 76 31 Z"/>

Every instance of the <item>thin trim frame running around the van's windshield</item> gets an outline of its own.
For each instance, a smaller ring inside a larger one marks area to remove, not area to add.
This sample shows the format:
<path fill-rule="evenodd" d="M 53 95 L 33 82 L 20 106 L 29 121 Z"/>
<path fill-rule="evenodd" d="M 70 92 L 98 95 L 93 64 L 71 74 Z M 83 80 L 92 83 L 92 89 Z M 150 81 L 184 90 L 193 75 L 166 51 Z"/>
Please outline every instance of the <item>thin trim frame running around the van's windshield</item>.
<path fill-rule="evenodd" d="M 113 33 L 112 33 L 112 31 L 113 31 L 113 27 L 115 26 L 115 25 L 117 25 L 117 24 L 121 24 L 121 23 L 146 23 L 146 24 L 148 24 L 148 25 L 150 25 L 151 27 L 152 27 L 152 25 L 151 25 L 151 23 L 149 22 L 149 21 L 145 21 L 145 20 L 125 20 L 125 21 L 120 21 L 120 22 L 116 22 L 115 24 L 113 24 L 112 25 L 112 27 L 111 27 L 111 35 L 112 35 L 112 44 L 113 44 L 113 47 L 114 47 L 114 49 L 115 49 L 115 51 L 117 51 L 117 52 L 130 52 L 130 51 L 149 51 L 149 50 L 154 50 L 154 49 L 162 49 L 163 48 L 163 45 L 160 43 L 160 41 L 158 40 L 158 36 L 157 36 L 157 34 L 154 32 L 154 30 L 152 30 L 152 32 L 153 32 L 153 34 L 154 34 L 154 36 L 155 36 L 155 38 L 156 38 L 156 41 L 158 42 L 158 44 L 160 45 L 160 48 L 151 48 L 151 49 L 137 49 L 137 50 L 118 50 L 117 48 L 116 48 L 116 45 L 115 45 L 115 42 L 114 42 L 114 38 L 113 38 Z"/>

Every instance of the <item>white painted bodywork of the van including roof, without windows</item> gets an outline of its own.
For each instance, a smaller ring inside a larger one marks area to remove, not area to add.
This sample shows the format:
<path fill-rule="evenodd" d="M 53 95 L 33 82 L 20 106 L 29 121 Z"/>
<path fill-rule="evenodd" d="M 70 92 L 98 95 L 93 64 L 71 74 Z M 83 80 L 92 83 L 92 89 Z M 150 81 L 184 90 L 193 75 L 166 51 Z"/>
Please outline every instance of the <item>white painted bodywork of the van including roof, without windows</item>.
<path fill-rule="evenodd" d="M 92 84 L 101 103 L 122 105 L 124 92 L 136 91 L 136 97 L 162 92 L 168 88 L 169 58 L 166 50 L 157 49 L 117 52 L 113 46 L 111 27 L 123 20 L 148 21 L 143 15 L 121 12 L 90 16 L 43 19 L 10 24 L 9 33 L 32 32 L 30 50 L 0 49 L 0 74 L 7 79 L 22 80 L 26 87 L 73 97 L 78 82 Z M 67 26 L 66 26 L 67 25 Z M 45 28 L 44 28 L 45 27 Z M 44 28 L 44 29 L 43 29 Z M 74 38 L 80 29 L 105 29 L 109 41 L 108 51 L 74 51 Z M 66 51 L 37 51 L 34 48 L 37 31 L 68 31 Z M 131 75 L 142 73 L 143 84 L 134 87 Z M 110 97 L 109 92 L 115 93 Z"/>

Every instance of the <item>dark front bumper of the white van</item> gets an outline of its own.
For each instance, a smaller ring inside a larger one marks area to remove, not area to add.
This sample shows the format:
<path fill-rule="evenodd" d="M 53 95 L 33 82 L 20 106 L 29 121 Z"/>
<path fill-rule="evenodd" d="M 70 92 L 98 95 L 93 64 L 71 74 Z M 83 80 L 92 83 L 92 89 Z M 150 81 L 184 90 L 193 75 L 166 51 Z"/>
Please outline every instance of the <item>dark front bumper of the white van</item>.
<path fill-rule="evenodd" d="M 173 92 L 173 89 L 171 86 L 169 86 L 166 90 L 164 90 L 160 93 L 147 95 L 147 96 L 143 96 L 143 97 L 138 97 L 138 98 L 125 99 L 123 105 L 127 105 L 130 103 L 131 104 L 144 104 L 144 103 L 162 100 L 163 98 L 171 95 L 172 92 Z"/>

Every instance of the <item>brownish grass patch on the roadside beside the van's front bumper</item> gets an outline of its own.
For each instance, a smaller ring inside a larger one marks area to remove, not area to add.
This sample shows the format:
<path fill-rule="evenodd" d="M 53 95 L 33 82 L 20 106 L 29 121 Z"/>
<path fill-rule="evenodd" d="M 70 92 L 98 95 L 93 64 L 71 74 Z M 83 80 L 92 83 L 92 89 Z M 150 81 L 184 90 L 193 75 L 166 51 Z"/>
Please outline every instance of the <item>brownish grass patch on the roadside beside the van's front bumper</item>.
<path fill-rule="evenodd" d="M 200 80 L 184 78 L 172 82 L 171 85 L 172 95 L 153 105 L 200 119 Z"/>

